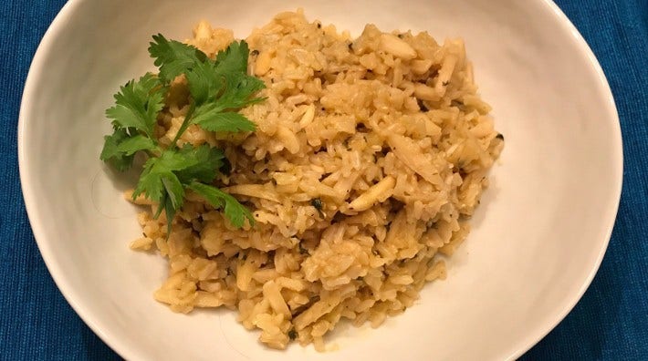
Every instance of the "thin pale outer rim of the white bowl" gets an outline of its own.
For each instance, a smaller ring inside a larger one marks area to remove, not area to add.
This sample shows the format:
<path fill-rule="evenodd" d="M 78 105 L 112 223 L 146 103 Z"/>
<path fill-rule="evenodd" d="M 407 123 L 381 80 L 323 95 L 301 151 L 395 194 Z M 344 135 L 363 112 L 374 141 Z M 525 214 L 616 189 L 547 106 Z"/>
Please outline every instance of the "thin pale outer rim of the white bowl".
<path fill-rule="evenodd" d="M 37 88 L 37 80 L 39 77 L 41 77 L 41 73 L 43 72 L 42 69 L 44 68 L 43 65 L 45 63 L 46 57 L 52 50 L 52 40 L 55 39 L 62 31 L 62 29 L 66 26 L 68 19 L 72 15 L 74 15 L 75 10 L 78 8 L 78 6 L 85 1 L 87 0 L 68 0 L 68 2 L 61 7 L 60 11 L 56 15 L 50 26 L 47 28 L 45 35 L 37 46 L 37 51 L 30 64 L 29 72 L 26 77 L 25 88 L 23 90 L 23 96 L 21 98 L 20 113 L 18 116 L 17 125 L 17 150 L 20 185 L 22 189 L 23 199 L 25 201 L 27 216 L 29 218 L 34 238 L 37 242 L 38 250 L 43 257 L 43 261 L 46 263 L 47 270 L 50 273 L 55 284 L 57 285 L 58 290 L 61 294 L 63 294 L 68 304 L 70 304 L 72 309 L 83 320 L 83 322 L 88 325 L 89 328 L 96 335 L 98 335 L 104 343 L 110 346 L 110 348 L 114 352 L 124 357 L 125 359 L 134 360 L 141 358 L 141 350 L 136 350 L 128 346 L 124 346 L 120 341 L 119 335 L 116 335 L 109 330 L 102 329 L 101 325 L 99 325 L 95 321 L 92 313 L 82 302 L 79 302 L 77 299 L 75 299 L 72 292 L 70 291 L 71 286 L 68 284 L 68 281 L 66 280 L 64 274 L 60 271 L 59 264 L 54 260 L 54 257 L 52 255 L 52 253 L 54 253 L 54 250 L 53 247 L 51 247 L 47 242 L 47 232 L 41 225 L 41 223 L 38 222 L 41 214 L 40 211 L 38 211 L 38 202 L 36 197 L 34 196 L 33 187 L 30 181 L 33 176 L 32 174 L 30 174 L 30 171 L 28 170 L 26 165 L 27 150 L 24 135 L 26 133 L 27 124 L 29 123 L 29 120 L 26 119 L 26 114 L 28 113 L 27 109 L 29 108 L 28 99 L 32 98 L 35 88 Z M 622 195 L 623 148 L 621 123 L 611 88 L 607 81 L 607 77 L 605 77 L 602 67 L 593 51 L 591 50 L 591 47 L 587 44 L 584 37 L 580 35 L 580 32 L 578 31 L 576 26 L 571 23 L 569 17 L 563 13 L 559 6 L 556 5 L 552 0 L 537 1 L 541 3 L 541 5 L 546 6 L 546 8 L 551 11 L 552 15 L 555 16 L 561 26 L 567 27 L 565 30 L 567 30 L 570 33 L 570 36 L 573 37 L 573 40 L 576 41 L 577 50 L 587 57 L 589 63 L 588 65 L 592 70 L 595 71 L 598 77 L 597 80 L 605 97 L 605 103 L 603 107 L 608 113 L 606 118 L 611 119 L 613 123 L 610 139 L 613 140 L 611 147 L 614 149 L 615 153 L 613 154 L 613 165 L 615 167 L 613 167 L 611 173 L 614 176 L 613 180 L 615 181 L 615 187 L 612 190 L 613 193 L 611 191 L 611 195 L 613 195 L 613 198 L 611 198 L 611 207 L 606 210 L 605 218 L 603 218 L 604 221 L 607 222 L 607 224 L 605 224 L 607 230 L 605 232 L 605 239 L 604 242 L 601 243 L 601 249 L 597 254 L 596 260 L 590 270 L 590 273 L 588 273 L 587 277 L 582 280 L 582 283 L 578 288 L 578 292 L 575 292 L 570 297 L 565 298 L 561 311 L 552 315 L 552 321 L 550 323 L 547 323 L 547 325 L 545 325 L 544 327 L 540 327 L 539 331 L 529 333 L 529 335 L 524 338 L 524 341 L 520 342 L 520 344 L 517 346 L 517 349 L 507 356 L 508 360 L 517 359 L 519 356 L 524 355 L 531 347 L 538 344 L 538 342 L 542 338 L 548 335 L 551 330 L 553 330 L 567 315 L 569 315 L 570 311 L 580 301 L 580 298 L 590 286 L 594 276 L 601 266 L 602 259 L 610 243 L 611 233 L 614 227 L 614 223 L 616 222 L 616 216 Z"/>

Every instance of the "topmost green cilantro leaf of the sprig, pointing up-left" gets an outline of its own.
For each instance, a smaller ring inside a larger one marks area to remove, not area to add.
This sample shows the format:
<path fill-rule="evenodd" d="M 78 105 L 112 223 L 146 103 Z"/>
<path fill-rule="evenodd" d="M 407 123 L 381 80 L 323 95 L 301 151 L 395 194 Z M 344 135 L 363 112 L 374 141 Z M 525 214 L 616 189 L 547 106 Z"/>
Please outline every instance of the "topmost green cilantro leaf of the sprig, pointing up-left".
<path fill-rule="evenodd" d="M 155 66 L 160 68 L 160 77 L 171 82 L 175 77 L 203 63 L 207 56 L 197 48 L 175 40 L 167 40 L 162 34 L 153 36 L 149 44 L 149 54 L 155 59 Z"/>

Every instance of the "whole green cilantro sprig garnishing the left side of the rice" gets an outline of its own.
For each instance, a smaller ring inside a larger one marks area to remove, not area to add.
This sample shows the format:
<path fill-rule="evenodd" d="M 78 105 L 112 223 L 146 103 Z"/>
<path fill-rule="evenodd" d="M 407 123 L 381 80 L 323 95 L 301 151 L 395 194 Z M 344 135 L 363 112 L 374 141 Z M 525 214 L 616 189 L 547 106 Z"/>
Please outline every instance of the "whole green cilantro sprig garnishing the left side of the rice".
<path fill-rule="evenodd" d="M 214 208 L 225 212 L 235 227 L 246 220 L 254 224 L 252 213 L 236 199 L 214 186 L 221 168 L 228 163 L 223 150 L 206 144 L 193 147 L 177 142 L 192 124 L 215 132 L 254 131 L 256 125 L 238 110 L 264 98 L 256 93 L 265 88 L 263 81 L 246 74 L 249 48 L 245 41 L 233 42 L 214 60 L 199 49 L 153 36 L 149 53 L 159 73 L 147 73 L 120 87 L 114 96 L 115 105 L 106 110 L 113 133 L 104 137 L 100 159 L 118 170 L 128 170 L 135 155 L 146 154 L 133 191 L 159 204 L 154 217 L 166 212 L 167 234 L 171 232 L 173 216 L 182 209 L 187 191 L 201 195 Z M 172 81 L 184 76 L 189 89 L 189 111 L 170 146 L 163 146 L 155 137 L 158 115 L 165 107 L 164 98 Z"/>

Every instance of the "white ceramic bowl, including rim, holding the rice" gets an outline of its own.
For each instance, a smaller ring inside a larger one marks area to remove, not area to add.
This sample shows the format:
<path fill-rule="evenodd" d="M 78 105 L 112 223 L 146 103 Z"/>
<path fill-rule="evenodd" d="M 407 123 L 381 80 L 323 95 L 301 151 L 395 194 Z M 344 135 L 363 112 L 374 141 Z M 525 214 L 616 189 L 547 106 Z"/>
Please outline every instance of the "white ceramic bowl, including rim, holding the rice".
<path fill-rule="evenodd" d="M 601 67 L 546 0 L 70 0 L 38 47 L 19 122 L 26 208 L 38 247 L 69 304 L 130 360 L 512 359 L 569 313 L 596 273 L 622 185 L 622 139 Z M 133 180 L 99 161 L 104 109 L 120 84 L 152 69 L 153 34 L 184 39 L 201 19 L 246 36 L 303 6 L 358 35 L 427 30 L 465 38 L 480 92 L 506 136 L 474 231 L 404 315 L 371 330 L 340 327 L 339 351 L 272 351 L 227 310 L 173 314 L 152 292 L 157 255 L 134 253 Z"/>

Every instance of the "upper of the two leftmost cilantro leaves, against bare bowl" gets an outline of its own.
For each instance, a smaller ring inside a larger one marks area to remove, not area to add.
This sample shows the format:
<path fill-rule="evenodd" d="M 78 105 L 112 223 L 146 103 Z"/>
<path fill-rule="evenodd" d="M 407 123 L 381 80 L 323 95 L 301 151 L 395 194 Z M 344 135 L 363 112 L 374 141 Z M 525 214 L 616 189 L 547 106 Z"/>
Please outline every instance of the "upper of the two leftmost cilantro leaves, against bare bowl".
<path fill-rule="evenodd" d="M 160 79 L 151 73 L 131 80 L 115 94 L 116 104 L 106 110 L 106 116 L 118 128 L 134 128 L 152 138 L 164 90 Z"/>

